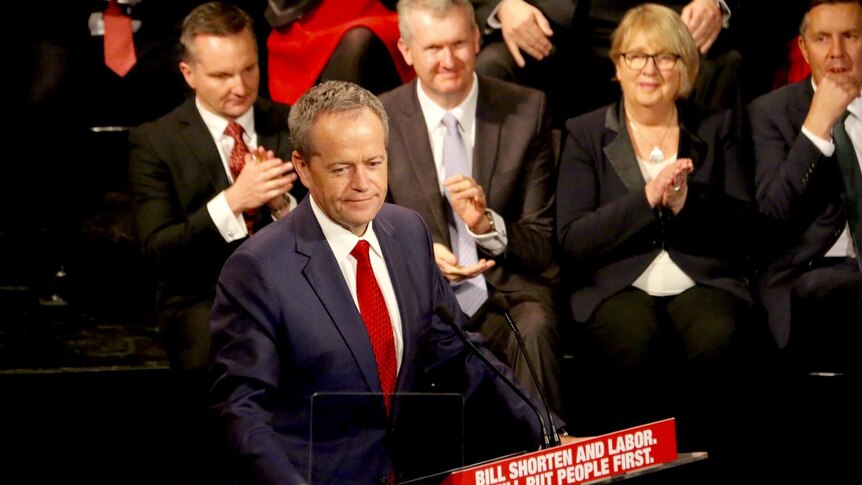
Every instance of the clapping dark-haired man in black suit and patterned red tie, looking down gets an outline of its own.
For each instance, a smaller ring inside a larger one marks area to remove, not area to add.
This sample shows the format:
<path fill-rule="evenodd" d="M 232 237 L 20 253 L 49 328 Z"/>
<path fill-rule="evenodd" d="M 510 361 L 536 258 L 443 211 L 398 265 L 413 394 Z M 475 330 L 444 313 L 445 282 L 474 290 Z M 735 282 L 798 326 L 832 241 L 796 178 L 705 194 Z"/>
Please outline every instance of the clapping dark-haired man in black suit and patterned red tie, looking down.
<path fill-rule="evenodd" d="M 182 440 L 171 443 L 182 443 L 176 456 L 190 464 L 188 479 L 211 472 L 201 481 L 216 483 L 216 467 L 205 465 L 212 461 L 206 369 L 216 280 L 250 232 L 296 205 L 287 195 L 296 175 L 282 161 L 290 155 L 289 109 L 257 97 L 257 48 L 245 12 L 204 4 L 185 18 L 180 41 L 180 70 L 195 97 L 130 133 L 129 180 L 173 371 L 173 426 Z"/>

